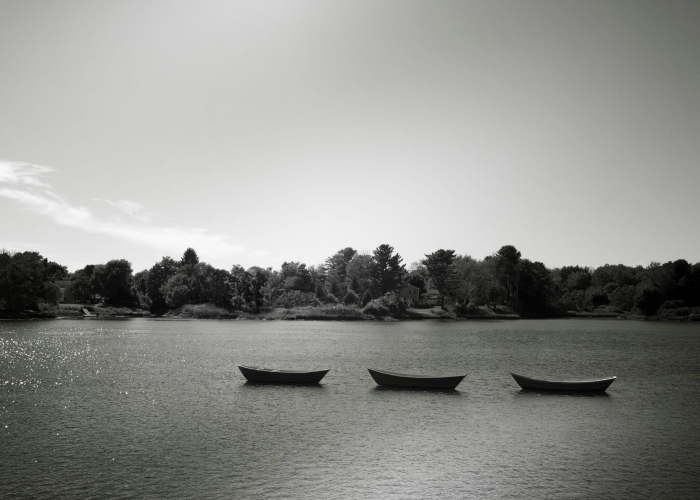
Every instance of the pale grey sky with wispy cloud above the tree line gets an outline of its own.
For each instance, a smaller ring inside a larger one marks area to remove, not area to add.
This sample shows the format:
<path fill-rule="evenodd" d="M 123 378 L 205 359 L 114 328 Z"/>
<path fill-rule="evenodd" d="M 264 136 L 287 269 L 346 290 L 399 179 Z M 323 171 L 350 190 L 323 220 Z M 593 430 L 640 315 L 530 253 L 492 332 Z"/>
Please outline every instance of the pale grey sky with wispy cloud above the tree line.
<path fill-rule="evenodd" d="M 0 0 L 0 248 L 700 261 L 700 2 Z"/>

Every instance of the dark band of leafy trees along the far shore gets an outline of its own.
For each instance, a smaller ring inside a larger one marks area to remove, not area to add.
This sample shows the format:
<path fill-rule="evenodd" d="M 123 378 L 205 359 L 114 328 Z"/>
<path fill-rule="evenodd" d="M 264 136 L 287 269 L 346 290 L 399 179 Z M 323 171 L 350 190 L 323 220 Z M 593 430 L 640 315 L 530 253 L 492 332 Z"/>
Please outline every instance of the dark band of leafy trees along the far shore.
<path fill-rule="evenodd" d="M 231 270 L 200 262 L 197 252 L 188 248 L 179 260 L 163 257 L 135 274 L 124 259 L 69 273 L 37 252 L 2 250 L 0 310 L 37 307 L 54 293 L 47 283 L 61 279 L 71 279 L 76 293 L 98 296 L 106 305 L 137 306 L 157 314 L 199 303 L 251 313 L 335 304 L 372 312 L 402 307 L 395 292 L 406 284 L 421 293 L 437 289 L 442 308 L 458 312 L 478 306 L 507 306 L 523 316 L 596 308 L 646 316 L 700 312 L 693 311 L 700 307 L 700 263 L 683 259 L 647 267 L 549 269 L 506 245 L 481 260 L 439 249 L 407 268 L 388 244 L 372 253 L 343 248 L 319 265 L 284 262 L 279 269 L 234 265 Z"/>

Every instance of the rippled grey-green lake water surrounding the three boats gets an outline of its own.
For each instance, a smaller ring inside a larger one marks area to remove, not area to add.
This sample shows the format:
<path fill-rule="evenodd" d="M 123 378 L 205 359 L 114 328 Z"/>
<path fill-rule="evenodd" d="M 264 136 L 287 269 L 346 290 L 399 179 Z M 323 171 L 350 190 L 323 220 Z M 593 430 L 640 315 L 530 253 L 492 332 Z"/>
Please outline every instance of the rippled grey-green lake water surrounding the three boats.
<path fill-rule="evenodd" d="M 237 363 L 331 371 L 261 386 Z M 698 498 L 699 415 L 698 323 L 0 322 L 3 499 Z"/>

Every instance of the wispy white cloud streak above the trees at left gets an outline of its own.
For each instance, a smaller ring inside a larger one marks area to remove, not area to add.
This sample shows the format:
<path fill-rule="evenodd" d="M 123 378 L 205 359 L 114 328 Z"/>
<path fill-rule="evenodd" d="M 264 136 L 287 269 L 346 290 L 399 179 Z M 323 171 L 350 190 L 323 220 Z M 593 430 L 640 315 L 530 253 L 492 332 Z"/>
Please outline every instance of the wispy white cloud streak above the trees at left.
<path fill-rule="evenodd" d="M 114 222 L 99 218 L 88 208 L 74 206 L 52 191 L 50 185 L 42 180 L 50 172 L 55 172 L 55 169 L 0 160 L 0 197 L 10 199 L 26 210 L 47 216 L 61 226 L 120 238 L 166 252 L 175 248 L 194 247 L 202 255 L 226 256 L 245 251 L 243 246 L 234 244 L 227 234 L 197 227 L 148 224 L 153 214 L 135 201 L 101 200 L 133 216 L 137 221 Z"/>

